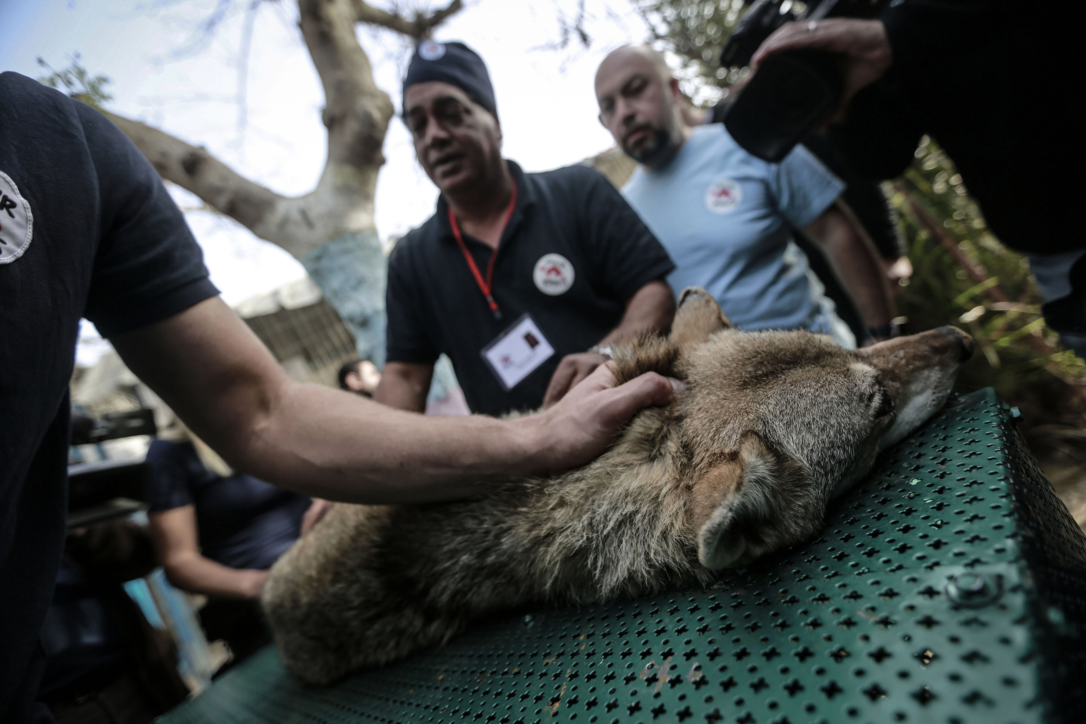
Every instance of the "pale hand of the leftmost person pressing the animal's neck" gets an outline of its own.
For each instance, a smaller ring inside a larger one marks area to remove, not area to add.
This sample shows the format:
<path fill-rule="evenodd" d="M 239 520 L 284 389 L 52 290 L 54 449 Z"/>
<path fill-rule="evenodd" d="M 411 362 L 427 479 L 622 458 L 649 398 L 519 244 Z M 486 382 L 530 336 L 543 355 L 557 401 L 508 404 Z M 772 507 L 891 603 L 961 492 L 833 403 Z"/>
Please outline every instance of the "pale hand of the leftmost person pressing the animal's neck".
<path fill-rule="evenodd" d="M 656 372 L 616 386 L 610 366 L 601 364 L 559 402 L 517 422 L 535 440 L 535 449 L 543 456 L 539 465 L 560 472 L 598 457 L 637 410 L 668 405 L 682 392 L 682 382 Z"/>

